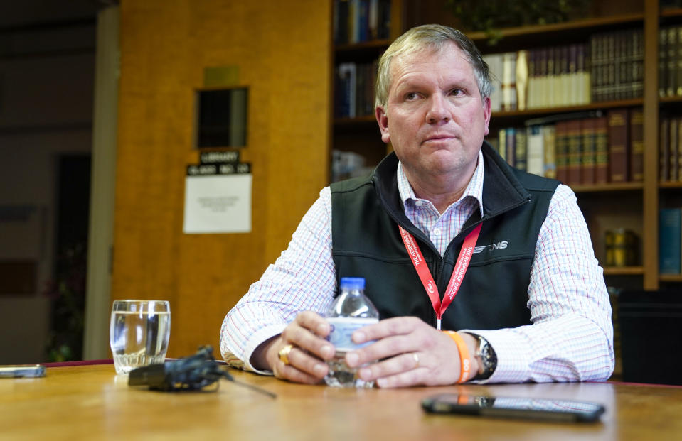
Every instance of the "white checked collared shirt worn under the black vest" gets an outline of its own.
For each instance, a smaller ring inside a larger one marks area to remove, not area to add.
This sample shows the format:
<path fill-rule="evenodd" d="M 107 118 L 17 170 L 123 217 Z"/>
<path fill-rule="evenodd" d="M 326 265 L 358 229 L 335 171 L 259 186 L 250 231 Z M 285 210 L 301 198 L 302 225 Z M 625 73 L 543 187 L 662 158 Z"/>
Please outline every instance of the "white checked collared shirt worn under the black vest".
<path fill-rule="evenodd" d="M 405 214 L 441 254 L 471 213 L 482 211 L 482 186 L 483 156 L 479 153 L 464 194 L 439 214 L 431 202 L 415 197 L 398 165 Z M 331 192 L 325 187 L 289 247 L 225 316 L 220 330 L 223 358 L 233 366 L 255 370 L 250 357 L 258 345 L 281 333 L 299 312 L 313 310 L 324 315 L 335 289 Z M 614 355 L 609 296 L 587 224 L 575 195 L 565 185 L 555 191 L 540 229 L 528 308 L 533 325 L 469 330 L 487 339 L 497 354 L 497 368 L 487 381 L 585 381 L 610 376 Z"/>

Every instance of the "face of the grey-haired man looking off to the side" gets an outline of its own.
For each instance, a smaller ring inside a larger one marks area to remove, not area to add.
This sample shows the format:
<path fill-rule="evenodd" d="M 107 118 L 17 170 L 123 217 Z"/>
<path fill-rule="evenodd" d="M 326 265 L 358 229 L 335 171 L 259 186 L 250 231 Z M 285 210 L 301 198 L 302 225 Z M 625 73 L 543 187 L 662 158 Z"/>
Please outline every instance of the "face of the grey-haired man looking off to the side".
<path fill-rule="evenodd" d="M 390 80 L 387 104 L 376 117 L 382 140 L 393 144 L 408 178 L 471 178 L 488 134 L 490 100 L 481 99 L 462 50 L 447 43 L 394 58 Z"/>

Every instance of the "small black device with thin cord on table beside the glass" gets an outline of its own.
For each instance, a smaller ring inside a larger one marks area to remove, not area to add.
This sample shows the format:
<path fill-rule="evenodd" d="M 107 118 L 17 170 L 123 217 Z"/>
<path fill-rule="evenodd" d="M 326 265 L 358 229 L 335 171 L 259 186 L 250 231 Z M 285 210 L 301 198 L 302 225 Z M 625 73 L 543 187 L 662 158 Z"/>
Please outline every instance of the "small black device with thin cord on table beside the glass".
<path fill-rule="evenodd" d="M 213 348 L 202 346 L 196 354 L 162 364 L 150 364 L 133 369 L 128 374 L 128 386 L 149 386 L 156 391 L 198 391 L 220 379 L 252 388 L 272 398 L 274 393 L 235 381 L 228 371 L 220 369 L 213 358 Z"/>

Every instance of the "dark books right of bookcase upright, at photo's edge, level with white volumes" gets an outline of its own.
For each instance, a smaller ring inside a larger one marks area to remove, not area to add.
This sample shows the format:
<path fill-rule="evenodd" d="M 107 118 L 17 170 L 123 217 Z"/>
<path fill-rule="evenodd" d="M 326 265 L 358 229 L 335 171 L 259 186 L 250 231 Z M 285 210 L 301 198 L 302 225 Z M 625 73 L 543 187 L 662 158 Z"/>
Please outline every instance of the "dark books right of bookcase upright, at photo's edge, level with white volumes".
<path fill-rule="evenodd" d="M 682 26 L 659 29 L 659 96 L 682 96 Z"/>

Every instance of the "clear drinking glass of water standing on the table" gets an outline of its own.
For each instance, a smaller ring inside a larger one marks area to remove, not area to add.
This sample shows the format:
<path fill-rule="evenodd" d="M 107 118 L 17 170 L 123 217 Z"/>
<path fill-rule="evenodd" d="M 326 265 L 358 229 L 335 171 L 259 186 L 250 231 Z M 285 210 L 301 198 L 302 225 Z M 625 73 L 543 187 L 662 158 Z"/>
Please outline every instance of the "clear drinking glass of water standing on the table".
<path fill-rule="evenodd" d="M 109 341 L 117 374 L 163 363 L 171 334 L 166 300 L 114 300 Z"/>

